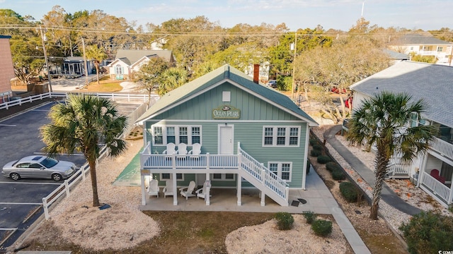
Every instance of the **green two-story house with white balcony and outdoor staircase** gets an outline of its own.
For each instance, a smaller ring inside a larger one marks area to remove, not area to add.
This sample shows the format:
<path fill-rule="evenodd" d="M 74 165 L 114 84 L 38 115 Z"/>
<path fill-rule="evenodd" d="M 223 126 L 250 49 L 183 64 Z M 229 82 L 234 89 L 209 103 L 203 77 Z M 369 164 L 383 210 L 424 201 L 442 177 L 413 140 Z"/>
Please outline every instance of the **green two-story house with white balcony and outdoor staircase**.
<path fill-rule="evenodd" d="M 145 183 L 152 178 L 159 186 L 173 183 L 173 205 L 177 186 L 195 181 L 236 188 L 238 205 L 241 188 L 258 188 L 261 205 L 267 195 L 287 206 L 289 188 L 305 189 L 309 127 L 318 126 L 289 97 L 229 65 L 168 92 L 137 122 L 144 123 L 145 133 L 143 205 Z M 184 143 L 187 150 L 200 144 L 201 154 L 163 154 L 168 143 Z"/>

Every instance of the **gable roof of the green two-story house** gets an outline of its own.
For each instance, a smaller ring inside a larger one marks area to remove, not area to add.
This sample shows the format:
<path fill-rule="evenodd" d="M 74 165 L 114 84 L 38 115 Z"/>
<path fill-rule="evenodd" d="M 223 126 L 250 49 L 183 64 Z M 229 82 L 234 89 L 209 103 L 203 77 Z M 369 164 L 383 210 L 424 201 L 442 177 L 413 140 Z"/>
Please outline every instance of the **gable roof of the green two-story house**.
<path fill-rule="evenodd" d="M 307 121 L 309 126 L 318 126 L 318 123 L 302 109 L 297 107 L 289 97 L 282 95 L 280 92 L 276 92 L 273 89 L 254 83 L 251 77 L 228 64 L 219 67 L 206 75 L 202 75 L 200 78 L 190 81 L 175 90 L 167 92 L 166 95 L 161 97 L 161 99 L 140 116 L 137 122 L 151 119 L 157 114 L 161 114 L 168 109 L 176 107 L 178 104 L 186 102 L 202 92 L 211 90 L 214 87 L 217 87 L 217 85 L 221 85 L 225 81 L 256 97 L 260 97 L 270 104 L 273 104 L 275 107 L 287 111 L 289 114 L 292 114 L 299 119 Z"/>

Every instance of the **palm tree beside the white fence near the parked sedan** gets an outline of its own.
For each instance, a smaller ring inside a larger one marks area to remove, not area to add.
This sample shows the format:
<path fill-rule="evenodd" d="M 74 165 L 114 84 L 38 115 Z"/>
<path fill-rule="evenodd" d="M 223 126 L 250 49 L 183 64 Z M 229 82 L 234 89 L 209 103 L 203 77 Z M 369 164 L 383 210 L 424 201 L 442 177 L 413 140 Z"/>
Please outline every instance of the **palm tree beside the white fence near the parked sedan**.
<path fill-rule="evenodd" d="M 56 104 L 48 116 L 52 123 L 40 129 L 45 152 L 50 156 L 60 152 L 84 153 L 90 166 L 93 206 L 98 207 L 96 160 L 101 150 L 98 144 L 107 145 L 109 156 L 120 155 L 126 149 L 125 141 L 118 138 L 125 131 L 126 116 L 120 115 L 109 99 L 91 95 L 69 95 L 66 104 Z"/>

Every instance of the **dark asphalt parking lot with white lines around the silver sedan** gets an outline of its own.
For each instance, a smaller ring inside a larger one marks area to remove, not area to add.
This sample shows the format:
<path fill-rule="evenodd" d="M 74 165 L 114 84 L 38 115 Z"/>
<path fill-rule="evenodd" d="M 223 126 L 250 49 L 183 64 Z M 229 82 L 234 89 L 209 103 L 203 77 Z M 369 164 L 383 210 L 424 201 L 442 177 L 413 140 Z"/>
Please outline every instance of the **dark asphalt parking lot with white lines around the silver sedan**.
<path fill-rule="evenodd" d="M 40 139 L 40 126 L 49 123 L 47 113 L 53 104 L 47 102 L 28 111 L 0 121 L 0 167 L 28 155 L 41 154 L 45 147 Z M 122 104 L 122 114 L 129 114 L 139 104 Z M 57 159 L 74 162 L 79 168 L 83 155 L 59 155 Z M 0 174 L 0 250 L 11 246 L 43 213 L 42 198 L 63 181 L 21 179 L 13 181 Z M 1 251 L 0 251 L 1 252 Z"/>

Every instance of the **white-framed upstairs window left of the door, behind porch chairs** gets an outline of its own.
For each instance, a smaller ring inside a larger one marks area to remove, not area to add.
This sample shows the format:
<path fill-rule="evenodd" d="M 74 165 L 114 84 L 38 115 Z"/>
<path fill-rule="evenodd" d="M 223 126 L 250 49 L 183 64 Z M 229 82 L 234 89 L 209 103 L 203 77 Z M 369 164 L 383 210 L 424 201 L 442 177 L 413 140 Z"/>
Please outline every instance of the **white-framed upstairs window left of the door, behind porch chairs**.
<path fill-rule="evenodd" d="M 201 145 L 201 126 L 152 126 L 153 145 L 166 145 L 168 143 L 185 143 Z"/>

